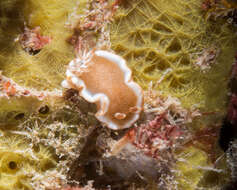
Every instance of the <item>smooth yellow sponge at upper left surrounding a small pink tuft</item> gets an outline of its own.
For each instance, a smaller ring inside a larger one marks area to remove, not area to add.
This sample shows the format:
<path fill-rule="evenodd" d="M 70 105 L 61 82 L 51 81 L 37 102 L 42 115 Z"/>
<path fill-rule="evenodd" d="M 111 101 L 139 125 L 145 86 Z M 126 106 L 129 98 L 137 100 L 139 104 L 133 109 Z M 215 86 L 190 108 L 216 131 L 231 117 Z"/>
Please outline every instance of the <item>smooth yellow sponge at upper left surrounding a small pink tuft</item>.
<path fill-rule="evenodd" d="M 78 5 L 76 0 L 28 0 L 24 6 L 17 7 L 15 11 L 19 10 L 21 15 L 24 15 L 21 17 L 21 27 L 11 28 L 13 34 L 8 32 L 3 35 L 3 31 L 0 30 L 0 40 L 1 34 L 4 36 L 3 46 L 12 44 L 2 48 L 0 43 L 0 70 L 3 71 L 3 75 L 20 85 L 40 90 L 60 88 L 66 66 L 74 57 L 73 47 L 67 43 L 73 31 L 66 27 L 65 23 L 75 7 L 82 12 L 85 2 Z M 1 19 L 9 20 L 7 16 Z M 36 55 L 29 55 L 16 41 L 17 35 L 23 32 L 23 21 L 29 28 L 40 26 L 41 34 L 52 38 L 51 43 Z"/>

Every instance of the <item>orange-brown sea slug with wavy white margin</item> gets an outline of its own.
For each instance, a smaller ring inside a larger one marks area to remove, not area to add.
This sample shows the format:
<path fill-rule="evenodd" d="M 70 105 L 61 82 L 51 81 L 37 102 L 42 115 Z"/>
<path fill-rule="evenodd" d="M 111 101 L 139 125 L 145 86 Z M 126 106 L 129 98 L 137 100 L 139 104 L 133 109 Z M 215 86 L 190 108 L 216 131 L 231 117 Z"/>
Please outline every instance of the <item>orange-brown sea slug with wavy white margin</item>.
<path fill-rule="evenodd" d="M 126 61 L 108 51 L 97 50 L 69 63 L 64 88 L 74 88 L 97 106 L 96 118 L 118 130 L 130 127 L 143 106 L 143 93 L 132 80 Z"/>

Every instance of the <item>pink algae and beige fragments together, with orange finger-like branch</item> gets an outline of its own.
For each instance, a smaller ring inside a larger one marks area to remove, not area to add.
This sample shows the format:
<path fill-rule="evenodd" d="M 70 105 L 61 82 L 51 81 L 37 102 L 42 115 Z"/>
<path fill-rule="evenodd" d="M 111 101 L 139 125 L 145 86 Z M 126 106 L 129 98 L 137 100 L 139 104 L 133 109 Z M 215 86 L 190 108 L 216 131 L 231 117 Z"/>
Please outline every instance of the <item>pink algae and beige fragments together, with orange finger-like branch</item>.
<path fill-rule="evenodd" d="M 159 159 L 161 152 L 168 153 L 190 137 L 186 124 L 202 115 L 195 108 L 182 108 L 177 98 L 163 97 L 153 90 L 144 92 L 144 102 L 144 114 L 149 122 L 134 124 L 134 128 L 113 145 L 112 155 L 120 153 L 127 144 L 132 144 L 144 154 Z"/>

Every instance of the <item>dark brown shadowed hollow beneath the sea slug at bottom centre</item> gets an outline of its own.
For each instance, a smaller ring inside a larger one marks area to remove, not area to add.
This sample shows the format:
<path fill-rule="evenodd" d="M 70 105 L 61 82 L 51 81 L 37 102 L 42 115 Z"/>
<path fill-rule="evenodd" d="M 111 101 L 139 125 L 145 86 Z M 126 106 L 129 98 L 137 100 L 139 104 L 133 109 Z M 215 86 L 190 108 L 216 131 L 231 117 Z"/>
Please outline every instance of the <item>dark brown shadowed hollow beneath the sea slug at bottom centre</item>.
<path fill-rule="evenodd" d="M 146 187 L 150 182 L 149 179 L 156 179 L 158 172 L 155 177 L 148 176 L 145 173 L 141 173 L 141 176 L 143 176 L 141 177 L 139 172 L 130 172 L 134 170 L 133 167 L 136 167 L 133 162 L 118 157 L 102 157 L 103 153 L 108 150 L 106 143 L 103 142 L 106 136 L 107 138 L 113 136 L 112 138 L 117 139 L 123 136 L 125 132 L 126 130 L 122 130 L 115 134 L 101 126 L 93 129 L 87 138 L 80 157 L 69 170 L 70 180 L 80 181 L 83 186 L 87 185 L 88 181 L 93 180 L 93 187 L 96 189 L 107 189 L 109 187 L 112 190 L 126 190 L 131 187 L 131 184 L 137 188 Z M 156 167 L 154 166 L 154 168 Z M 157 168 L 155 170 L 158 171 Z M 76 184 L 72 183 L 71 185 Z"/>

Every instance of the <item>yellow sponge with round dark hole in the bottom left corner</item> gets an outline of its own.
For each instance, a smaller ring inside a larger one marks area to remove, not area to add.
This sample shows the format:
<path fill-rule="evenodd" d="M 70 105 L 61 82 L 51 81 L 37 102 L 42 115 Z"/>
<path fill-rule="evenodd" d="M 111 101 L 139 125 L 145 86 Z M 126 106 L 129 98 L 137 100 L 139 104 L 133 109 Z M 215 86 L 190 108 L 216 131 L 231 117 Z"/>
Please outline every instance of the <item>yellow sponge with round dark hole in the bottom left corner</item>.
<path fill-rule="evenodd" d="M 0 138 L 0 189 L 33 190 L 30 185 L 32 175 L 52 168 L 54 160 L 47 148 L 40 146 L 36 151 L 30 142 L 21 136 Z"/>

